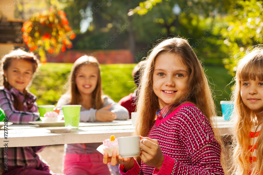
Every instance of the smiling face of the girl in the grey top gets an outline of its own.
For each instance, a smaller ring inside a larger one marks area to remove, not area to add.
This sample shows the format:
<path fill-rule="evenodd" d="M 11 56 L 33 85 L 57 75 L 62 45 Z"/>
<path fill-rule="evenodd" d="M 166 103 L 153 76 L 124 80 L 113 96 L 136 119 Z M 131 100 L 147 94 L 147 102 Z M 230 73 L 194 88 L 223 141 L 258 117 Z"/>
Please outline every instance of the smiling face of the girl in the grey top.
<path fill-rule="evenodd" d="M 81 95 L 92 95 L 98 82 L 98 67 L 87 64 L 78 68 L 76 85 Z"/>

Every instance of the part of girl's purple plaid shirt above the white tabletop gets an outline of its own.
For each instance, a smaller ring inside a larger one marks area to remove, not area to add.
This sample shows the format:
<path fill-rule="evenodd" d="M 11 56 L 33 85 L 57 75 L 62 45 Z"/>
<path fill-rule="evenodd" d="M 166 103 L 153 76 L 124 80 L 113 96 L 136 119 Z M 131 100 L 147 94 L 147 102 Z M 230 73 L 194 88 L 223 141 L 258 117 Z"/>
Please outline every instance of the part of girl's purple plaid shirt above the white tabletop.
<path fill-rule="evenodd" d="M 18 111 L 14 108 L 14 97 L 12 94 L 15 94 L 21 100 L 26 112 Z M 6 113 L 8 121 L 14 124 L 27 124 L 29 121 L 39 119 L 36 100 L 37 97 L 30 92 L 28 92 L 28 96 L 25 99 L 23 93 L 13 87 L 10 90 L 0 87 L 0 108 Z M 28 109 L 27 104 L 32 104 L 32 107 Z"/>

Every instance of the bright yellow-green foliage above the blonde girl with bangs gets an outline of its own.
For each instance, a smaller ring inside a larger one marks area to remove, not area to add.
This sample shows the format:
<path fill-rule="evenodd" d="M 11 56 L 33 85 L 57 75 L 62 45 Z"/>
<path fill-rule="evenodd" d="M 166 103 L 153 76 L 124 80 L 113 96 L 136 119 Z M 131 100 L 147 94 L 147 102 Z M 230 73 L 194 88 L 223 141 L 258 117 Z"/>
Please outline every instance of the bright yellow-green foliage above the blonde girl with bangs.
<path fill-rule="evenodd" d="M 230 13 L 224 18 L 228 27 L 221 30 L 222 44 L 228 47 L 222 47 L 229 56 L 223 62 L 233 76 L 238 59 L 245 55 L 247 49 L 263 43 L 262 3 L 256 0 L 232 2 Z"/>

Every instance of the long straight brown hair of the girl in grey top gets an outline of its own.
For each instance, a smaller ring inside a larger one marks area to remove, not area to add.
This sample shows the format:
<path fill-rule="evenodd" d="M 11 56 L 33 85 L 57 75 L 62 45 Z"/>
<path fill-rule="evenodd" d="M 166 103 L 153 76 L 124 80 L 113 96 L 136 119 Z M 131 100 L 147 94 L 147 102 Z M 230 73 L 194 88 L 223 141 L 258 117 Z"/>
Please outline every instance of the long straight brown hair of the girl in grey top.
<path fill-rule="evenodd" d="M 84 55 L 80 58 L 78 58 L 70 71 L 68 84 L 69 88 L 66 94 L 70 94 L 70 104 L 79 104 L 80 103 L 80 93 L 78 91 L 77 85 L 76 85 L 76 74 L 81 71 L 81 69 L 85 69 L 85 65 L 94 65 L 98 68 L 98 82 L 95 90 L 92 92 L 92 101 L 94 104 L 95 109 L 102 108 L 103 105 L 103 91 L 102 91 L 102 81 L 100 76 L 100 67 L 98 60 L 93 56 L 87 56 Z"/>

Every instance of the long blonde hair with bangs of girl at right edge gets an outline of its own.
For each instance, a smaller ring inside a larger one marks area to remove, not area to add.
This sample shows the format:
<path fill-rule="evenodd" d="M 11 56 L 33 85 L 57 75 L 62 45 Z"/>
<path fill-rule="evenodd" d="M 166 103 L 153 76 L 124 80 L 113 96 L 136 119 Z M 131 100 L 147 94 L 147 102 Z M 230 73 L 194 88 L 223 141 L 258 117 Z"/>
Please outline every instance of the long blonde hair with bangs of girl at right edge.
<path fill-rule="evenodd" d="M 255 118 L 255 113 L 243 103 L 241 98 L 241 81 L 252 79 L 263 80 L 263 49 L 256 47 L 253 51 L 246 54 L 237 63 L 237 72 L 235 77 L 235 89 L 232 93 L 234 101 L 234 172 L 232 174 L 262 174 L 263 172 L 263 132 L 258 136 L 257 142 L 257 162 L 256 167 L 251 167 L 249 157 L 251 152 L 248 149 L 250 145 L 251 125 Z M 263 117 L 263 112 L 261 112 Z M 254 124 L 255 125 L 255 124 Z M 262 122 L 260 124 L 262 126 Z M 260 173 L 259 173 L 260 172 Z"/>

